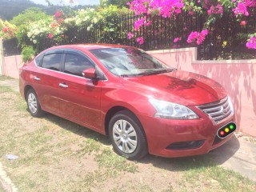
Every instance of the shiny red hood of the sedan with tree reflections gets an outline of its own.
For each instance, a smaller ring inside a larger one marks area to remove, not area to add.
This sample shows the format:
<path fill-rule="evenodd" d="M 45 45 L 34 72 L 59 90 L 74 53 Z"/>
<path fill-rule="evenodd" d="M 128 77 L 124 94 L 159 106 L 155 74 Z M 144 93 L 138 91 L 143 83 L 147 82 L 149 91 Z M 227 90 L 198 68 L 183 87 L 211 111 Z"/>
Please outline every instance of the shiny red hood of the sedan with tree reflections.
<path fill-rule="evenodd" d="M 210 78 L 182 70 L 123 78 L 123 86 L 148 98 L 197 106 L 226 97 L 226 90 Z"/>

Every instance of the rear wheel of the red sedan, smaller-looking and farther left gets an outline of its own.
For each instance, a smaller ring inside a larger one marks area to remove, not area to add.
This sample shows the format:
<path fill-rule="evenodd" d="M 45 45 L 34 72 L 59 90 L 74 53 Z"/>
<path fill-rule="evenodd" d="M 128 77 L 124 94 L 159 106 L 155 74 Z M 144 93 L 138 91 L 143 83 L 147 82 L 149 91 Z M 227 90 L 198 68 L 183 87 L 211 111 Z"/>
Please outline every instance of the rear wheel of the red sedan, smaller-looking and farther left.
<path fill-rule="evenodd" d="M 26 103 L 30 114 L 33 117 L 39 118 L 44 114 L 38 101 L 38 96 L 33 89 L 30 89 L 26 93 Z"/>

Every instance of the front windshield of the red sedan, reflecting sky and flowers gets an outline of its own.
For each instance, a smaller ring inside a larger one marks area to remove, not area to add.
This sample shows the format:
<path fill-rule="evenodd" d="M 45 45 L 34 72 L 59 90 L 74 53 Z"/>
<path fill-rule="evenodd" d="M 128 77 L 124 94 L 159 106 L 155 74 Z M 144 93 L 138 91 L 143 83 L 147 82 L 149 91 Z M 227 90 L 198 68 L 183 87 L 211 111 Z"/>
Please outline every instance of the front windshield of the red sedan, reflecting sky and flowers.
<path fill-rule="evenodd" d="M 112 74 L 121 77 L 162 74 L 174 68 L 135 48 L 104 48 L 90 50 Z"/>

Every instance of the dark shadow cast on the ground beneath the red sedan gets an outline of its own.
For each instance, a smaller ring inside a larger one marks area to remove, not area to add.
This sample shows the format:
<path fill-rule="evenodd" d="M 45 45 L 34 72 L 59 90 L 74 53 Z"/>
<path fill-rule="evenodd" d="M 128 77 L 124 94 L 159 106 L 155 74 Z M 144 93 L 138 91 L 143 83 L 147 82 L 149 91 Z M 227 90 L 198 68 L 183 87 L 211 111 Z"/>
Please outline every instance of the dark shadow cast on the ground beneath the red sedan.
<path fill-rule="evenodd" d="M 74 122 L 70 122 L 64 118 L 59 118 L 54 114 L 46 114 L 43 118 L 74 134 L 78 134 L 84 138 L 94 139 L 97 142 L 101 142 L 105 146 L 111 146 L 110 139 L 108 137 L 98 134 L 94 130 L 79 126 Z M 138 163 L 151 164 L 152 166 L 160 169 L 170 171 L 198 169 L 201 167 L 222 165 L 239 150 L 239 147 L 240 144 L 238 138 L 233 136 L 224 145 L 210 151 L 208 154 L 185 158 L 162 158 L 147 154 L 146 157 L 139 160 Z"/>

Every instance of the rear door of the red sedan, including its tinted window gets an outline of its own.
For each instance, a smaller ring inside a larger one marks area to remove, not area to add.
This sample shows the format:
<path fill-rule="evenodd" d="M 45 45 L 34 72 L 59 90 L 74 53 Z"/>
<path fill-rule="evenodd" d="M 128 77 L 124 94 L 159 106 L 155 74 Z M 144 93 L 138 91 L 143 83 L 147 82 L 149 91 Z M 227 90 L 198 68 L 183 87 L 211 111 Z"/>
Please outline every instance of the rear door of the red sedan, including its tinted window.
<path fill-rule="evenodd" d="M 63 50 L 50 50 L 43 55 L 39 63 L 36 63 L 38 67 L 32 73 L 34 90 L 38 94 L 42 110 L 53 114 L 59 113 L 58 76 L 63 59 Z"/>

